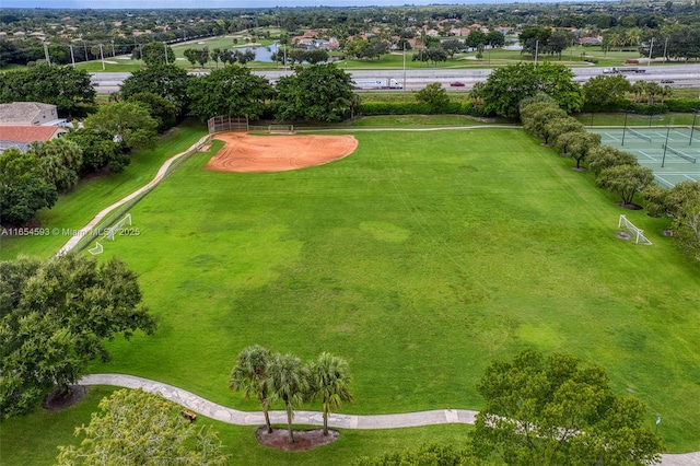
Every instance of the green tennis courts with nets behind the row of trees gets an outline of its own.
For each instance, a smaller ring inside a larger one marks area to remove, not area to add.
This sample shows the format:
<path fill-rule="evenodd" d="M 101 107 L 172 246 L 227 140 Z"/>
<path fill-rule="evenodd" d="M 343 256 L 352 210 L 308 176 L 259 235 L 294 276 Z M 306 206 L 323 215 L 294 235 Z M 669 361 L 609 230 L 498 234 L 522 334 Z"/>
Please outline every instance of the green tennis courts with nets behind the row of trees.
<path fill-rule="evenodd" d="M 600 143 L 630 152 L 654 171 L 657 184 L 672 187 L 700 180 L 700 130 L 689 126 L 588 128 Z"/>

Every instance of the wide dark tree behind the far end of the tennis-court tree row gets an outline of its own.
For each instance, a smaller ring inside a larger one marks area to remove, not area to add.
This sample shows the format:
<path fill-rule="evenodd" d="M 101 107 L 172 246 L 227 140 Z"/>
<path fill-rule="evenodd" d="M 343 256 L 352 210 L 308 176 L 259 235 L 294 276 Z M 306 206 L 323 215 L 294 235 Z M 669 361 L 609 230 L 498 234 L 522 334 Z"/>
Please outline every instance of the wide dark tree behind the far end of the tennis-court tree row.
<path fill-rule="evenodd" d="M 549 94 L 568 113 L 581 109 L 581 88 L 573 80 L 573 72 L 561 65 L 548 61 L 516 63 L 498 68 L 480 90 L 487 113 L 506 118 L 520 117 L 520 102 L 538 92 Z"/>

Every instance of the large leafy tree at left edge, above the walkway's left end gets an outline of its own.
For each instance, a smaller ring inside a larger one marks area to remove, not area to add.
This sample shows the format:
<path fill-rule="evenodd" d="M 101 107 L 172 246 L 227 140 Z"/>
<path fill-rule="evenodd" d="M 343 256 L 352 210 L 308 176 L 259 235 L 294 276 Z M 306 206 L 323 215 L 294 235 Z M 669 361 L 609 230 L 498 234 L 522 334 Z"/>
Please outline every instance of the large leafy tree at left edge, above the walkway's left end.
<path fill-rule="evenodd" d="M 67 391 L 104 340 L 150 334 L 137 276 L 124 261 L 83 255 L 0 263 L 0 411 L 30 411 L 52 387 Z"/>

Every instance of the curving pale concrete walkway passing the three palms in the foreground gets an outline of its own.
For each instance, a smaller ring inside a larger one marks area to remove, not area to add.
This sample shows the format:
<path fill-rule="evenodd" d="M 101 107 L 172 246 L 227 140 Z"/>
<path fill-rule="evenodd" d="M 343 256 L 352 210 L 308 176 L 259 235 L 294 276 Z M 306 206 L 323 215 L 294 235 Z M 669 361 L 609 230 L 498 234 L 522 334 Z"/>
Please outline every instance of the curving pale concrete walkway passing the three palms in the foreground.
<path fill-rule="evenodd" d="M 80 381 L 81 385 L 114 385 L 126 388 L 142 388 L 156 393 L 190 411 L 236 426 L 264 426 L 265 417 L 258 411 L 238 411 L 237 409 L 211 403 L 194 393 L 126 374 L 91 374 Z M 435 409 L 432 411 L 405 412 L 398 415 L 336 415 L 328 416 L 328 426 L 338 429 L 397 429 L 407 427 L 463 423 L 472 424 L 478 411 L 469 409 Z M 276 424 L 287 423 L 284 411 L 270 411 L 270 421 Z M 323 426 L 323 415 L 317 411 L 294 411 L 296 424 Z M 700 452 L 662 455 L 662 466 L 698 466 Z"/>

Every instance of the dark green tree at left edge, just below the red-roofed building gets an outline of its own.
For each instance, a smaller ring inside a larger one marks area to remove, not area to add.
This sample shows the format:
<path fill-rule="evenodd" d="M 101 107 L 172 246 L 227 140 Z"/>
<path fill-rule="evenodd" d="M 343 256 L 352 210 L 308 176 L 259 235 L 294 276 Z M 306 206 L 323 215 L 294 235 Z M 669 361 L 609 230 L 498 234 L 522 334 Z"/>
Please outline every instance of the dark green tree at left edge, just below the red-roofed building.
<path fill-rule="evenodd" d="M 23 225 L 58 200 L 56 186 L 46 180 L 42 161 L 12 148 L 0 153 L 0 222 Z"/>

